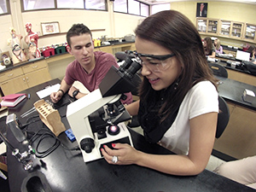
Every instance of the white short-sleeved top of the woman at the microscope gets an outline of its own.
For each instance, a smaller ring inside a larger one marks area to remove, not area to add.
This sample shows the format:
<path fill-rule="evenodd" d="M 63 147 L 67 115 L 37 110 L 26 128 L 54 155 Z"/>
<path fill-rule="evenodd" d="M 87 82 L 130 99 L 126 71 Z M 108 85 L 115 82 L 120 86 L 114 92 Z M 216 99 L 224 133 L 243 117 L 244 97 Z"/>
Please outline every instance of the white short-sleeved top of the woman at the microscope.
<path fill-rule="evenodd" d="M 188 154 L 189 119 L 211 112 L 218 113 L 218 92 L 210 81 L 201 81 L 184 97 L 177 117 L 160 140 L 160 145 L 176 154 Z"/>

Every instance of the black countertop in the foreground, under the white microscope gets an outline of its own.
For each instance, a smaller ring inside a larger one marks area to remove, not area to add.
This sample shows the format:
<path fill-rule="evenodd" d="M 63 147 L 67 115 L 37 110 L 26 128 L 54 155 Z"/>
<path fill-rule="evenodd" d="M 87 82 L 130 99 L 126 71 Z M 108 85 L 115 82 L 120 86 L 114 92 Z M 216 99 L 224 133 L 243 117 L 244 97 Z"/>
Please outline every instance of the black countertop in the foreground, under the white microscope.
<path fill-rule="evenodd" d="M 42 90 L 49 84 L 60 83 L 61 80 L 54 79 L 48 83 L 39 84 L 36 87 L 25 90 L 25 93 L 32 95 L 31 99 L 24 100 L 16 108 L 10 108 L 9 113 L 16 113 L 20 119 L 20 114 L 32 108 L 32 103 L 38 100 L 36 92 Z M 45 98 L 47 99 L 47 98 Z M 68 101 L 66 95 L 64 100 Z M 65 103 L 65 102 L 63 102 Z M 68 103 L 68 102 L 67 102 Z M 65 114 L 67 106 L 59 108 L 61 121 L 66 128 L 69 128 Z M 34 114 L 32 114 L 34 115 Z M 26 122 L 26 119 L 21 119 L 21 123 Z M 39 120 L 31 125 L 30 131 L 45 129 L 45 125 Z M 147 143 L 142 135 L 130 130 L 131 137 L 135 148 L 150 154 L 172 154 L 171 151 L 162 148 L 157 144 Z M 7 132 L 9 141 L 20 148 L 12 132 Z M 77 142 L 70 142 L 65 133 L 61 133 L 58 137 L 63 145 L 67 148 L 73 148 L 78 145 Z M 53 138 L 46 138 L 42 143 L 42 148 L 45 149 L 49 143 L 53 143 Z M 36 143 L 34 143 L 35 145 Z M 33 146 L 35 147 L 35 146 Z M 214 191 L 214 192 L 230 192 L 230 191 L 255 191 L 245 185 L 231 181 L 226 177 L 217 175 L 216 173 L 207 170 L 201 172 L 197 176 L 178 177 L 168 175 L 162 172 L 157 172 L 142 166 L 113 166 L 109 165 L 105 160 L 95 160 L 89 163 L 84 163 L 80 151 L 71 151 L 59 146 L 51 154 L 44 158 L 34 160 L 32 170 L 25 171 L 22 165 L 8 149 L 8 168 L 9 168 L 9 185 L 12 192 L 20 192 L 21 186 L 25 189 L 31 187 L 29 191 L 38 191 L 38 178 L 45 188 L 49 186 L 52 191 Z M 45 189 L 44 188 L 44 189 Z M 23 190 L 26 191 L 26 190 Z M 43 191 L 43 190 L 40 190 Z"/>

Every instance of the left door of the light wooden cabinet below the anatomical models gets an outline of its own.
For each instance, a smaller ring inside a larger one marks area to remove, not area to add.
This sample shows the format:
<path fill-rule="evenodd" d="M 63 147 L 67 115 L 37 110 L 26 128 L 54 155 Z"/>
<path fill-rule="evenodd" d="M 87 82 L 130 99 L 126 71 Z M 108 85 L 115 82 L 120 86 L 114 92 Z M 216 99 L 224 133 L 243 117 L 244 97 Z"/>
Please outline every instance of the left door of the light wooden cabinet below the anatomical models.
<path fill-rule="evenodd" d="M 26 90 L 28 88 L 25 76 L 23 75 L 18 78 L 5 81 L 1 83 L 0 86 L 5 96 L 20 92 L 21 90 Z"/>

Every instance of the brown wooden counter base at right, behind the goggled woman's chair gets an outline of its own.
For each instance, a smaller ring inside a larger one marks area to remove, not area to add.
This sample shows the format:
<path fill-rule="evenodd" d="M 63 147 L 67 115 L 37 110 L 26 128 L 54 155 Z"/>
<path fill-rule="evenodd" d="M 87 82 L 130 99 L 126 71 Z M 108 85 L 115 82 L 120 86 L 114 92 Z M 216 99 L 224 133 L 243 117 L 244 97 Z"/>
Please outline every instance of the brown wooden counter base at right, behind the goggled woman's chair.
<path fill-rule="evenodd" d="M 214 149 L 236 159 L 256 154 L 256 112 L 228 102 L 230 121 L 221 137 L 216 139 Z"/>

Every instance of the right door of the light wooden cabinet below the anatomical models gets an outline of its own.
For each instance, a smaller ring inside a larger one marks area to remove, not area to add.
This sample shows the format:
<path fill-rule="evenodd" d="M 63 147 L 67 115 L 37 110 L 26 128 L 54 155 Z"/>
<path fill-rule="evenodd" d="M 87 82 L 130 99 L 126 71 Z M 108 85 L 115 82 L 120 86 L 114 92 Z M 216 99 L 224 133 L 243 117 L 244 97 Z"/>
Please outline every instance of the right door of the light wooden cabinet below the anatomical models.
<path fill-rule="evenodd" d="M 44 82 L 51 80 L 48 67 L 39 69 L 32 73 L 26 73 L 25 78 L 26 78 L 26 84 L 28 84 L 29 87 L 32 87 L 38 84 L 43 84 Z"/>

